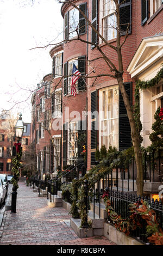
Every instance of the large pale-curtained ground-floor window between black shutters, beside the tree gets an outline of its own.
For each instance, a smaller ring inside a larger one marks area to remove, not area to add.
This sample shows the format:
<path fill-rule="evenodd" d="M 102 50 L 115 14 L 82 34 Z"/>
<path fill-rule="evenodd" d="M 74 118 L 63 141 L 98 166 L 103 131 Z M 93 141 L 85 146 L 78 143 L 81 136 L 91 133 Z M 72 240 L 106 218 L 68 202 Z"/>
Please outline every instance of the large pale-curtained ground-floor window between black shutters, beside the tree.
<path fill-rule="evenodd" d="M 118 149 L 118 88 L 100 91 L 99 143 Z"/>

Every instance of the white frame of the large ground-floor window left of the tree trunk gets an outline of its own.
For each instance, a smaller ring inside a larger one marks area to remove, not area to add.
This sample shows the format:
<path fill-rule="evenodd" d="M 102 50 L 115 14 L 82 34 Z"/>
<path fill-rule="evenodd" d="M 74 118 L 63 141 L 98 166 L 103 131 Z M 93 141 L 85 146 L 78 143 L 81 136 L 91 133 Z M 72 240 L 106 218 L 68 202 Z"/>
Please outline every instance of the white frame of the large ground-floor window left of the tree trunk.
<path fill-rule="evenodd" d="M 114 132 L 112 133 L 113 137 L 116 137 L 116 139 L 114 139 L 114 143 L 111 145 L 112 147 L 116 147 L 118 149 L 119 147 L 119 141 L 118 141 L 118 132 L 116 133 L 116 129 L 118 129 L 118 122 L 119 122 L 119 118 L 118 118 L 118 102 L 114 102 L 112 105 L 112 109 L 114 109 L 115 113 L 117 113 L 117 117 L 110 117 L 110 112 L 108 111 L 104 111 L 104 102 L 103 102 L 103 93 L 106 92 L 106 95 L 108 95 L 108 91 L 109 90 L 113 90 L 115 93 L 117 92 L 117 98 L 118 98 L 118 86 L 110 86 L 104 89 L 99 90 L 99 149 L 102 147 L 103 143 L 103 132 L 102 132 L 102 123 L 105 121 L 106 123 L 106 134 L 109 136 L 109 125 L 108 123 L 110 123 L 111 121 L 115 121 L 116 120 L 116 125 L 112 126 L 115 127 Z M 108 105 L 106 105 L 106 108 L 108 108 Z M 110 133 L 111 135 L 111 133 Z M 115 143 L 116 142 L 116 143 Z M 105 145 L 106 149 L 109 149 L 109 142 L 108 145 Z"/>

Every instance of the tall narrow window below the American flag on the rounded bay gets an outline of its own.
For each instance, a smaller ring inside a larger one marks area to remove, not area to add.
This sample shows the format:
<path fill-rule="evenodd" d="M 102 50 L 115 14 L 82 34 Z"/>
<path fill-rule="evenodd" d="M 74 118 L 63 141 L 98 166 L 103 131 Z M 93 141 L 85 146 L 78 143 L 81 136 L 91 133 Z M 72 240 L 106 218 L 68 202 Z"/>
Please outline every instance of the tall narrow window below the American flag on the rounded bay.
<path fill-rule="evenodd" d="M 68 164 L 74 164 L 78 154 L 78 127 L 77 122 L 68 124 Z"/>

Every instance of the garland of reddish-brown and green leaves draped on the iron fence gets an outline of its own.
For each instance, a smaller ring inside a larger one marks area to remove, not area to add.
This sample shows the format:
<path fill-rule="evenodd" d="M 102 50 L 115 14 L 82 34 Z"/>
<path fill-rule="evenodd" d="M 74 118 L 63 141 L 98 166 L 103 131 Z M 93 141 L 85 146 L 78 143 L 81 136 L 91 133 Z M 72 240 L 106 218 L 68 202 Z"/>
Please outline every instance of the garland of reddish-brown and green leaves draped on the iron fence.
<path fill-rule="evenodd" d="M 159 227 L 159 223 L 156 220 L 156 213 L 150 209 L 150 206 L 146 201 L 129 204 L 130 216 L 122 218 L 112 208 L 111 200 L 107 192 L 103 193 L 102 198 L 104 199 L 105 209 L 108 212 L 108 216 L 115 228 L 119 231 L 129 235 L 131 231 L 136 228 L 142 228 L 141 218 L 147 222 L 146 236 L 150 243 L 154 245 L 163 245 L 163 230 Z M 149 236 L 151 235 L 151 236 Z"/>

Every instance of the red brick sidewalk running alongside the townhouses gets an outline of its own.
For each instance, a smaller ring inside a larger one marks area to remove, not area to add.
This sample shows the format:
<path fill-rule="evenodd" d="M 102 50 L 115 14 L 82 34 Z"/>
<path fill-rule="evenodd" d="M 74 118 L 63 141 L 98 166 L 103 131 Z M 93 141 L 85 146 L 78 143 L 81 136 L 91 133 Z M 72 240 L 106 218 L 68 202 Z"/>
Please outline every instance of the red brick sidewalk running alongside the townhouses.
<path fill-rule="evenodd" d="M 46 197 L 19 182 L 16 214 L 5 211 L 0 245 L 115 245 L 106 237 L 80 239 L 64 208 L 49 208 Z"/>

